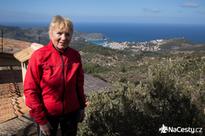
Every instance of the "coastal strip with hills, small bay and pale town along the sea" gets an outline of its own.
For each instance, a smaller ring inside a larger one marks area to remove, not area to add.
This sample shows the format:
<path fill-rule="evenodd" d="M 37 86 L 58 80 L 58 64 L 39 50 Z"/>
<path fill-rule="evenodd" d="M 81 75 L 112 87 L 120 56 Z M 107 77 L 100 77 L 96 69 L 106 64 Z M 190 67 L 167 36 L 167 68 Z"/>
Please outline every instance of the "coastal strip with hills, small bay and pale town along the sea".
<path fill-rule="evenodd" d="M 72 42 L 85 42 L 91 43 L 97 46 L 103 46 L 106 48 L 116 49 L 116 50 L 131 50 L 133 52 L 157 52 L 164 50 L 178 50 L 183 48 L 185 45 L 187 47 L 193 47 L 189 41 L 184 37 L 176 37 L 170 39 L 155 39 L 150 41 L 113 41 L 110 38 L 104 36 L 101 33 L 74 33 Z M 197 45 L 201 46 L 201 45 Z M 197 47 L 195 45 L 194 48 Z"/>

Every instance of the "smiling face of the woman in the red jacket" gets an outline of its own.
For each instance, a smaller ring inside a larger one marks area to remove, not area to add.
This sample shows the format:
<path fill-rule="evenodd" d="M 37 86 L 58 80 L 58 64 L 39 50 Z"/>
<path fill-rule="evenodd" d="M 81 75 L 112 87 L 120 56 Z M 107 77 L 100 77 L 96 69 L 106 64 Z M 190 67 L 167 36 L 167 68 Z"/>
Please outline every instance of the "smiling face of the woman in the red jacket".
<path fill-rule="evenodd" d="M 54 29 L 50 32 L 50 39 L 56 49 L 63 51 L 69 46 L 72 38 L 72 32 L 68 30 Z"/>

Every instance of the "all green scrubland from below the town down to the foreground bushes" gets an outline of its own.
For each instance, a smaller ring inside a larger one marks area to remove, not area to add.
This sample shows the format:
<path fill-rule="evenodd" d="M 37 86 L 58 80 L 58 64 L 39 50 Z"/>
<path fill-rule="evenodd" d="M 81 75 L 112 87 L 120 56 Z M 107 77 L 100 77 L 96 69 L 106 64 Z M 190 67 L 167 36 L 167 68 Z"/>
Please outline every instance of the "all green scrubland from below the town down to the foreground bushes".
<path fill-rule="evenodd" d="M 111 90 L 89 94 L 79 135 L 159 135 L 162 124 L 204 127 L 205 54 L 73 47 L 81 51 L 85 72 L 113 85 Z"/>

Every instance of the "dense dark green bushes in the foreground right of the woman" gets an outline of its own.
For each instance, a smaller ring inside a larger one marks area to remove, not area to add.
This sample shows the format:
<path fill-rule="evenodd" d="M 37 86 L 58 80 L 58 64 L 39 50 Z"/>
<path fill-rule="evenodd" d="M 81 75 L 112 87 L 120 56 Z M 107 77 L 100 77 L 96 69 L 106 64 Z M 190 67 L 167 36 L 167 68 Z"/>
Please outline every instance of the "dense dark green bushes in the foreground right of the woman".
<path fill-rule="evenodd" d="M 162 124 L 204 127 L 204 57 L 189 55 L 148 64 L 138 84 L 118 81 L 113 90 L 89 95 L 79 135 L 159 135 Z M 121 72 L 131 71 L 121 67 Z"/>

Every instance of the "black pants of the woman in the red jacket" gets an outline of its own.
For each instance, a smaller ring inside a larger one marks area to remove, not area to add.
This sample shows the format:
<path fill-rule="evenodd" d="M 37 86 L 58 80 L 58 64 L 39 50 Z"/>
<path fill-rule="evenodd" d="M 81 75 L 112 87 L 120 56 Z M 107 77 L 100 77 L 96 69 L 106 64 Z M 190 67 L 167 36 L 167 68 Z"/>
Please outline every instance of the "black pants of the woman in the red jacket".
<path fill-rule="evenodd" d="M 51 136 L 56 136 L 60 125 L 62 136 L 76 136 L 78 126 L 78 112 L 69 113 L 63 116 L 48 116 L 48 122 L 52 126 Z M 38 126 L 38 136 L 43 136 Z"/>

